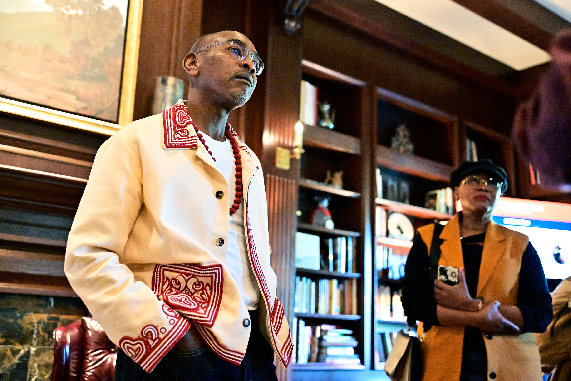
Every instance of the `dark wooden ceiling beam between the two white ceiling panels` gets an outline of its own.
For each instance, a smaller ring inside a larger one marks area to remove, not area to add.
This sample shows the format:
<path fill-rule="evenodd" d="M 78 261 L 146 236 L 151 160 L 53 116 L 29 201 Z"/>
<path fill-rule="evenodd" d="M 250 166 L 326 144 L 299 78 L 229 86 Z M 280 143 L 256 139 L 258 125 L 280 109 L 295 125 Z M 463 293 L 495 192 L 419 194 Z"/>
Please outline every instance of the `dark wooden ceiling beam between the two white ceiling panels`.
<path fill-rule="evenodd" d="M 496 0 L 453 0 L 494 24 L 523 38 L 533 45 L 549 51 L 553 34 L 538 27 L 533 22 L 515 13 Z"/>

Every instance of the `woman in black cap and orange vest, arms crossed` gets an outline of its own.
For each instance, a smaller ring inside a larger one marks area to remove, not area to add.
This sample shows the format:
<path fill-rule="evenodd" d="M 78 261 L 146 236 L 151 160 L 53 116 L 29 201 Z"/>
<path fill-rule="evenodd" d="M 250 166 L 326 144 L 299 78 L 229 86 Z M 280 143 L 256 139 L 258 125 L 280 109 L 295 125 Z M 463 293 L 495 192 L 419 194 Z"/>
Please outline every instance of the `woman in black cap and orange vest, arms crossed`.
<path fill-rule="evenodd" d="M 540 381 L 531 332 L 551 321 L 551 296 L 528 237 L 492 221 L 506 172 L 489 159 L 464 162 L 451 185 L 463 211 L 443 228 L 419 228 L 403 279 L 405 315 L 421 322 L 422 379 Z M 437 251 L 444 274 L 457 269 L 455 286 L 431 278 L 429 252 Z"/>

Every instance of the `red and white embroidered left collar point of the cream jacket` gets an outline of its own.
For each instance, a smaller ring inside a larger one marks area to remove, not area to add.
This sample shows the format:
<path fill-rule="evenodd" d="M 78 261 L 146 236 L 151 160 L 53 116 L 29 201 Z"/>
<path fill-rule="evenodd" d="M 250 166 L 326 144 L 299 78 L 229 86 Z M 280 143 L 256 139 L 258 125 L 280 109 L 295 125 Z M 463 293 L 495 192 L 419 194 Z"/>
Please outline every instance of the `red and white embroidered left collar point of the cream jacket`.
<path fill-rule="evenodd" d="M 165 149 L 189 149 L 198 147 L 198 137 L 186 105 L 177 102 L 170 109 L 163 111 L 163 143 Z"/>

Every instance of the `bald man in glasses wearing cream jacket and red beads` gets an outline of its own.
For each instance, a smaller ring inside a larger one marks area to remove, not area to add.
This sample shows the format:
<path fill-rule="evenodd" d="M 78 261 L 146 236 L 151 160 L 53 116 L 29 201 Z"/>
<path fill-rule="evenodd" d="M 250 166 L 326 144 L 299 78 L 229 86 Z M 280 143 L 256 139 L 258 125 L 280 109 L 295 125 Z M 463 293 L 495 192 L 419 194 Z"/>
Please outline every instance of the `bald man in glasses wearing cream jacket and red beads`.
<path fill-rule="evenodd" d="M 190 89 L 99 149 L 65 270 L 115 380 L 276 380 L 292 338 L 270 266 L 262 165 L 227 123 L 264 63 L 235 31 L 184 57 Z"/>

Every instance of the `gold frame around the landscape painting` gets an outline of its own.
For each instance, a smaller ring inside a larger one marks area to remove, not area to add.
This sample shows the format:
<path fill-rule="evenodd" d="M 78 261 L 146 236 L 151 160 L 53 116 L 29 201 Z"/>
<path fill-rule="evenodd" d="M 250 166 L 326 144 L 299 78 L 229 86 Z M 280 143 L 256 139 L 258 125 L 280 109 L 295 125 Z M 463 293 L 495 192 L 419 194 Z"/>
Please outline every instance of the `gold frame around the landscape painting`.
<path fill-rule="evenodd" d="M 43 122 L 73 127 L 102 135 L 113 135 L 132 122 L 135 106 L 135 85 L 139 62 L 140 26 L 143 15 L 143 0 L 129 0 L 126 36 L 124 43 L 123 71 L 119 97 L 118 123 L 101 121 L 66 111 L 38 106 L 25 101 L 0 96 L 0 113 L 20 115 Z"/>

